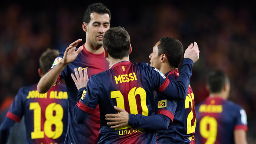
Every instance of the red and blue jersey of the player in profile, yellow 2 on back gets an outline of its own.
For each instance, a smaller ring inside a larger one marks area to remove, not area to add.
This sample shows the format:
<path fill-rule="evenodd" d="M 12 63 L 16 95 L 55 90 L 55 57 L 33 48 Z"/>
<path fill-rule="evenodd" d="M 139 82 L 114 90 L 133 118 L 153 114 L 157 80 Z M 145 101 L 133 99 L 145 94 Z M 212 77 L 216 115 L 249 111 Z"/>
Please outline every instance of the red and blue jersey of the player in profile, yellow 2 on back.
<path fill-rule="evenodd" d="M 174 69 L 165 74 L 170 81 L 176 81 L 179 77 L 178 69 Z M 190 144 L 194 140 L 196 113 L 194 105 L 194 94 L 191 86 L 188 87 L 188 92 L 184 100 L 166 100 L 166 96 L 156 92 L 156 114 L 164 114 L 164 110 L 172 110 L 174 107 L 164 106 L 165 102 L 172 102 L 176 107 L 174 109 L 174 118 L 172 124 L 167 130 L 156 131 L 157 144 Z"/>

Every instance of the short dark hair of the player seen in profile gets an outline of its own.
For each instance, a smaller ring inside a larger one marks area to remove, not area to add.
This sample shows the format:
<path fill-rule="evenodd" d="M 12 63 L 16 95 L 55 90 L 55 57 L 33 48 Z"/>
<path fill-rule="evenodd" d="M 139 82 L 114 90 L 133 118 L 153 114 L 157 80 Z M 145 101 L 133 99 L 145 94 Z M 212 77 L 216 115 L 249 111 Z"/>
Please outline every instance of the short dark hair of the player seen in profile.
<path fill-rule="evenodd" d="M 158 55 L 166 54 L 170 66 L 178 68 L 183 58 L 183 45 L 176 38 L 162 37 L 158 44 Z"/>

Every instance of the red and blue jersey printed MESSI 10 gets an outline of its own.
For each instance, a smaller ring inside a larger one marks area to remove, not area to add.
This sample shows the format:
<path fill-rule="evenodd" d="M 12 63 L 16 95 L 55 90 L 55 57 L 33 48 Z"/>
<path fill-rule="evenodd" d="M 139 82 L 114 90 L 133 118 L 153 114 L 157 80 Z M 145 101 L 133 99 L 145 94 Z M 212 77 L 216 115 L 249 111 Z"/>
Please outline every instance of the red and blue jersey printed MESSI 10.
<path fill-rule="evenodd" d="M 185 60 L 186 61 L 186 60 Z M 152 116 L 155 114 L 154 90 L 163 93 L 186 93 L 191 76 L 192 60 L 187 60 L 187 69 L 184 70 L 184 79 L 178 84 L 170 82 L 164 74 L 149 64 L 132 64 L 123 61 L 115 64 L 109 70 L 91 76 L 86 88 L 81 88 L 80 100 L 76 104 L 75 119 L 84 120 L 81 111 L 91 114 L 97 104 L 100 106 L 100 133 L 98 143 L 102 144 L 155 144 L 154 130 L 144 128 L 112 129 L 106 123 L 106 114 L 117 113 L 114 106 L 125 109 L 130 114 Z M 185 76 L 186 75 L 186 76 Z M 182 86 L 181 86 L 182 85 Z M 185 89 L 184 89 L 185 87 Z M 77 112 L 77 113 L 76 113 Z"/>

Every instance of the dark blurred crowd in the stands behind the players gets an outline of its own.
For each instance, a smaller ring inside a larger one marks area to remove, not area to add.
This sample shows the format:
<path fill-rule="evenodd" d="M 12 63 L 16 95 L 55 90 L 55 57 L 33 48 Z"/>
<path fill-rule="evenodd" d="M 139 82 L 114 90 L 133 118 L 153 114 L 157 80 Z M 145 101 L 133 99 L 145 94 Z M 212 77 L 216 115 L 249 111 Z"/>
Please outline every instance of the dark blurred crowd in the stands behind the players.
<path fill-rule="evenodd" d="M 163 36 L 177 38 L 186 49 L 197 42 L 200 58 L 190 85 L 195 103 L 208 96 L 206 74 L 224 70 L 231 81 L 230 100 L 248 117 L 248 143 L 256 143 L 256 1 L 159 0 L 0 2 L 0 111 L 19 88 L 39 81 L 38 59 L 47 48 L 65 50 L 82 38 L 86 7 L 102 2 L 111 11 L 110 27 L 131 36 L 131 62 L 149 62 L 152 47 Z"/>

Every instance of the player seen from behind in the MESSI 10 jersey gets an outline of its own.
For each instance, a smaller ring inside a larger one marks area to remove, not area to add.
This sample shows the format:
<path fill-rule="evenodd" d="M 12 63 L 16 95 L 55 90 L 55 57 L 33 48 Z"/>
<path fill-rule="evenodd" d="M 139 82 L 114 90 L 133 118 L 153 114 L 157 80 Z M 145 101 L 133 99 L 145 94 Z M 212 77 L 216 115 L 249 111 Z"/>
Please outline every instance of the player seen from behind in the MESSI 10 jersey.
<path fill-rule="evenodd" d="M 100 106 L 100 134 L 98 143 L 148 144 L 156 143 L 155 131 L 126 126 L 112 129 L 107 125 L 105 115 L 117 113 L 114 106 L 125 109 L 131 114 L 152 116 L 155 114 L 153 91 L 169 94 L 169 98 L 184 98 L 190 82 L 193 62 L 199 58 L 198 46 L 190 45 L 184 54 L 184 65 L 177 82 L 169 81 L 156 68 L 149 64 L 132 64 L 129 54 L 132 51 L 130 36 L 124 28 L 110 28 L 103 37 L 104 55 L 109 59 L 110 69 L 95 74 L 89 81 L 82 72 L 71 74 L 78 90 L 78 102 L 74 109 L 78 124 L 88 119 L 97 104 Z M 87 84 L 88 81 L 88 84 Z M 87 84 L 87 86 L 86 86 Z M 86 87 L 86 88 L 83 88 Z M 157 122 L 149 125 L 154 128 L 167 128 L 170 118 L 159 115 Z"/>

